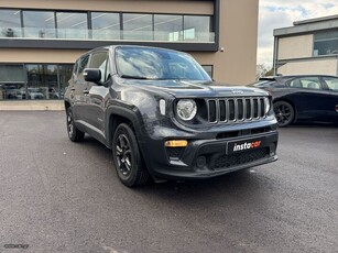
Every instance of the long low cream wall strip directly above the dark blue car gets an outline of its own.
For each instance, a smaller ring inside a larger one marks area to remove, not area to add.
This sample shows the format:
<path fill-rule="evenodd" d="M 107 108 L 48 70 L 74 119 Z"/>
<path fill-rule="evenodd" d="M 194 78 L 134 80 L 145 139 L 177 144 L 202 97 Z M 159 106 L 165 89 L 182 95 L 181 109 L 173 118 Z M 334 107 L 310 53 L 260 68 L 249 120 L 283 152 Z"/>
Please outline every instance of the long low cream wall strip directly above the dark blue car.
<path fill-rule="evenodd" d="M 308 59 L 291 62 L 279 68 L 282 75 L 338 75 L 338 59 Z"/>

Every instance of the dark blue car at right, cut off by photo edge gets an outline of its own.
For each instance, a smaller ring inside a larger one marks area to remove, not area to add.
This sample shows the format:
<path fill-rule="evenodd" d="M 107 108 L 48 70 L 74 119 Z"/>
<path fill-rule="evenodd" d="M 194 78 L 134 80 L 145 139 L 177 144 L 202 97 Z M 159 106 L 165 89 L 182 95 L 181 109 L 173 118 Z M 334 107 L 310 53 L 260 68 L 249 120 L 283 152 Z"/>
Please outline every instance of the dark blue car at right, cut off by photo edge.
<path fill-rule="evenodd" d="M 337 76 L 264 77 L 250 86 L 271 92 L 280 127 L 303 120 L 338 122 Z"/>

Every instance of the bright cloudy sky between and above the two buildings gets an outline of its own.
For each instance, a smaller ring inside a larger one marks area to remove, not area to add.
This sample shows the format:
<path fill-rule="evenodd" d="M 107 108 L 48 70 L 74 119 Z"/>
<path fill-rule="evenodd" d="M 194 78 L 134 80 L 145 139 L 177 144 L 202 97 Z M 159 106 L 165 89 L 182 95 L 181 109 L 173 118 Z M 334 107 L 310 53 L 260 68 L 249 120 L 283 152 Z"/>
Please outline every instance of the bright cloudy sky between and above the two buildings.
<path fill-rule="evenodd" d="M 273 30 L 338 14 L 338 0 L 260 0 L 258 64 L 272 66 Z"/>

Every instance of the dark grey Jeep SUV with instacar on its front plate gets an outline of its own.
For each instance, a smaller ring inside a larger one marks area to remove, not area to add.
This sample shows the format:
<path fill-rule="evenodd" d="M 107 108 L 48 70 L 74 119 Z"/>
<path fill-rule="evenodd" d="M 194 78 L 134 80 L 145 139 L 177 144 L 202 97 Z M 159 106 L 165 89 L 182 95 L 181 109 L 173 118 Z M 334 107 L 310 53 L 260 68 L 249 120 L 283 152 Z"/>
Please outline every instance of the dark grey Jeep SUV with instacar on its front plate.
<path fill-rule="evenodd" d="M 127 186 L 219 176 L 276 161 L 276 119 L 264 90 L 225 87 L 188 54 L 108 46 L 74 66 L 67 132 L 112 150 Z M 80 157 L 78 157 L 80 158 Z"/>

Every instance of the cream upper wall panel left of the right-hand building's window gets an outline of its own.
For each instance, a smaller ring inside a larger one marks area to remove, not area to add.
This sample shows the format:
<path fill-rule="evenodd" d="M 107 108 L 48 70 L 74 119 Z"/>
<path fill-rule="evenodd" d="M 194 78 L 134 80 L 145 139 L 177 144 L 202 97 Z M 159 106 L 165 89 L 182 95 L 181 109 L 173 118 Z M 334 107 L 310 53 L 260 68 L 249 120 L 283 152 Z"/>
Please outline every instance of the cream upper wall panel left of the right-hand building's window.
<path fill-rule="evenodd" d="M 314 35 L 282 37 L 279 41 L 279 59 L 312 57 Z"/>

